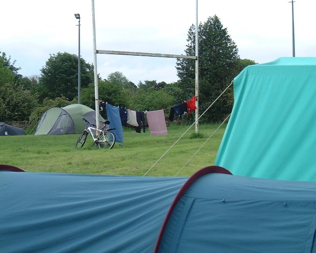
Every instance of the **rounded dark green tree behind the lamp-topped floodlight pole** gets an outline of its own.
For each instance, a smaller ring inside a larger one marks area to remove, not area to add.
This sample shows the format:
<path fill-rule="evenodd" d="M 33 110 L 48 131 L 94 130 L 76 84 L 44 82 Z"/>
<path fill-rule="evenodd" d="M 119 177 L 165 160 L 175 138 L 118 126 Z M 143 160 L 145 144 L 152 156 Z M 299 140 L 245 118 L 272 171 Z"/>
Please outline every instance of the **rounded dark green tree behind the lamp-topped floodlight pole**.
<path fill-rule="evenodd" d="M 78 58 L 69 53 L 50 55 L 46 65 L 41 69 L 42 75 L 37 86 L 39 98 L 54 99 L 65 96 L 74 99 L 78 92 Z M 94 80 L 93 66 L 81 59 L 81 88 L 85 88 Z"/>

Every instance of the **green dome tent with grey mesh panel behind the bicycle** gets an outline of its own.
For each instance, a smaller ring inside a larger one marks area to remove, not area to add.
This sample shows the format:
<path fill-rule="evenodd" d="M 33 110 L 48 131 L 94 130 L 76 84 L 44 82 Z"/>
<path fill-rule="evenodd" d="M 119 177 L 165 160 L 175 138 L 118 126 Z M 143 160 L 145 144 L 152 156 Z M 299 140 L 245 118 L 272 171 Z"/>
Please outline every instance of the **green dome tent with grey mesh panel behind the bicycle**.
<path fill-rule="evenodd" d="M 80 104 L 52 107 L 43 113 L 34 135 L 80 134 L 85 130 L 82 118 L 95 124 L 95 111 Z"/>

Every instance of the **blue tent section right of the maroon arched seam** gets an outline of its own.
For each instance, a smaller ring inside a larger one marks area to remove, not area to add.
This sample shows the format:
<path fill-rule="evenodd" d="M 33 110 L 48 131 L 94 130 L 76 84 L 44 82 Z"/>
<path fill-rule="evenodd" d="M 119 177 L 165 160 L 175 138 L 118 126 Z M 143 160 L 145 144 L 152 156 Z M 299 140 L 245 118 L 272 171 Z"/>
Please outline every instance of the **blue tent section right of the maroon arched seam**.
<path fill-rule="evenodd" d="M 173 210 L 157 252 L 316 252 L 316 182 L 210 173 Z"/>

